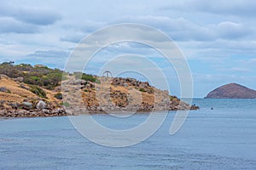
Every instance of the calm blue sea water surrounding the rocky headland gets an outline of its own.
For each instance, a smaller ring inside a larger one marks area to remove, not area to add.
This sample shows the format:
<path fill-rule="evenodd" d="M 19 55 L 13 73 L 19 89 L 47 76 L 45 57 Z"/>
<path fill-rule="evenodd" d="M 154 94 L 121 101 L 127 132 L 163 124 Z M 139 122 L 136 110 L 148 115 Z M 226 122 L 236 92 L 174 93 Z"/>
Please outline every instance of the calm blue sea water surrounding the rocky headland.
<path fill-rule="evenodd" d="M 175 116 L 149 139 L 124 148 L 95 144 L 68 117 L 0 121 L 0 169 L 256 169 L 256 99 L 194 99 L 183 127 L 169 130 Z M 213 110 L 211 110 L 213 108 Z M 125 129 L 148 117 L 94 116 L 107 127 Z"/>

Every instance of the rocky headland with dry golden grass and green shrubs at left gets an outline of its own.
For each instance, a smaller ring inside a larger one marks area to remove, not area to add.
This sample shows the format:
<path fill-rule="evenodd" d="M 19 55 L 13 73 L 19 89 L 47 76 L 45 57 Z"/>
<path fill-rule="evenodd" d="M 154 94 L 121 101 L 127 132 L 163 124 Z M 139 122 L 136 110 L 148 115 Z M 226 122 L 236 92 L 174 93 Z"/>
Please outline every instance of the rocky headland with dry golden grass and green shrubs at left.
<path fill-rule="evenodd" d="M 67 100 L 63 101 L 65 97 Z M 81 108 L 86 108 L 86 112 Z M 77 112 L 71 113 L 69 109 Z M 0 64 L 0 117 L 197 109 L 198 106 L 135 78 L 106 79 L 82 72 L 68 73 L 46 65 Z"/>

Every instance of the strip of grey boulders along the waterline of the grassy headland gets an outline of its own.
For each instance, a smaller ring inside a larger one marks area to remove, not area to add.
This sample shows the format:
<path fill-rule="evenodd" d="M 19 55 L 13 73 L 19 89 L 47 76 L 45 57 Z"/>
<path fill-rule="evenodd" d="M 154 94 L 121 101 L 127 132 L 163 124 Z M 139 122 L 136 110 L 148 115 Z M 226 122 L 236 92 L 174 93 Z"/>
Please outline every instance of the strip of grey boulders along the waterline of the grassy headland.
<path fill-rule="evenodd" d="M 28 102 L 27 102 L 28 103 Z M 25 103 L 26 104 L 26 103 Z M 41 104 L 41 105 L 38 105 Z M 62 108 L 49 108 L 45 105 L 44 101 L 40 100 L 37 105 L 32 106 L 30 108 L 27 106 L 28 104 L 23 105 L 14 105 L 12 104 L 12 109 L 2 108 L 0 109 L 0 117 L 50 117 L 50 116 L 73 116 L 73 115 L 82 115 L 82 114 L 108 114 L 108 112 L 115 111 L 120 114 L 129 111 L 137 112 L 137 113 L 145 113 L 145 112 L 154 112 L 154 111 L 188 111 L 188 110 L 198 110 L 199 107 L 195 105 L 189 105 L 179 99 L 172 101 L 168 108 L 154 108 L 154 105 L 139 105 L 139 107 L 134 106 L 129 109 L 127 108 L 114 108 L 111 107 L 90 107 L 89 110 L 86 110 L 83 107 L 68 107 L 66 110 L 64 107 Z M 137 109 L 139 108 L 139 109 Z M 73 111 L 73 112 L 72 112 Z"/>

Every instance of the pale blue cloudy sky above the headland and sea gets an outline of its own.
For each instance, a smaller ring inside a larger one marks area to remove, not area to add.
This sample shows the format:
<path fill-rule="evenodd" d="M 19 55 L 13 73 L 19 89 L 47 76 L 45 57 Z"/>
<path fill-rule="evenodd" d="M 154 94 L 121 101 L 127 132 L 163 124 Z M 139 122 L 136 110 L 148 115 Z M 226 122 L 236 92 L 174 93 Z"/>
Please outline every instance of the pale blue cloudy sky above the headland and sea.
<path fill-rule="evenodd" d="M 176 42 L 189 63 L 195 97 L 205 97 L 230 82 L 256 89 L 253 0 L 2 0 L 0 62 L 64 69 L 68 56 L 84 37 L 122 23 L 152 26 Z M 102 50 L 95 59 L 99 62 L 90 65 L 88 72 L 96 73 L 105 56 L 131 52 L 151 57 L 166 69 L 165 61 L 150 48 L 137 43 L 118 46 L 122 53 L 115 46 Z M 166 70 L 171 72 L 167 77 L 172 84 L 170 91 L 179 96 L 178 79 L 172 70 Z"/>

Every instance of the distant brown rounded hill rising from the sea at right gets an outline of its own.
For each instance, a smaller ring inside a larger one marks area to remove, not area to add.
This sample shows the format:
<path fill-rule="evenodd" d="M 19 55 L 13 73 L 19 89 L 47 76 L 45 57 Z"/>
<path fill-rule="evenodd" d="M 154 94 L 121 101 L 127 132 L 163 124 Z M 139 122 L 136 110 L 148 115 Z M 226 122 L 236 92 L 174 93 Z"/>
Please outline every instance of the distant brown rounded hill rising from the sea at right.
<path fill-rule="evenodd" d="M 230 83 L 212 90 L 206 99 L 256 99 L 256 90 Z"/>

